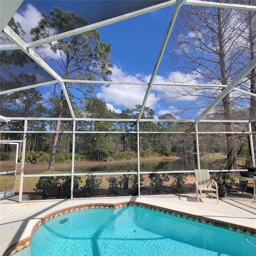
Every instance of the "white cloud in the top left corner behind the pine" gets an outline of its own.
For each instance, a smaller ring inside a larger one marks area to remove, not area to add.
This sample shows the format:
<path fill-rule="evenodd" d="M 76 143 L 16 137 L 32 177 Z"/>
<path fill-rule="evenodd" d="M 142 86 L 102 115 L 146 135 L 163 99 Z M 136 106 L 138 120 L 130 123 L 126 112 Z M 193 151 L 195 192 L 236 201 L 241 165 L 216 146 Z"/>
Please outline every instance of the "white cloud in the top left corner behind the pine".
<path fill-rule="evenodd" d="M 32 4 L 27 4 L 24 11 L 14 14 L 14 19 L 20 22 L 22 29 L 26 32 L 26 35 L 24 35 L 25 42 L 31 42 L 30 30 L 37 26 L 41 18 L 41 13 Z"/>

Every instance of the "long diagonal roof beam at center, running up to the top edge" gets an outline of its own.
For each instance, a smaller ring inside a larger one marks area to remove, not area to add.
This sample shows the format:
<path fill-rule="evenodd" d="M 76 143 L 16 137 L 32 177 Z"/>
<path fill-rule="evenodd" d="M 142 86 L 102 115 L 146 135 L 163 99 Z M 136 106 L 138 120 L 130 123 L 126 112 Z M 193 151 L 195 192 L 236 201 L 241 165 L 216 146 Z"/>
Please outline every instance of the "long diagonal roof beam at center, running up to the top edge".
<path fill-rule="evenodd" d="M 168 43 L 170 34 L 171 34 L 172 29 L 173 29 L 173 27 L 174 27 L 174 23 L 175 23 L 175 21 L 176 21 L 176 18 L 177 18 L 177 16 L 178 16 L 178 13 L 179 13 L 179 11 L 180 11 L 181 6 L 182 6 L 185 2 L 186 2 L 186 0 L 178 0 L 178 1 L 176 2 L 175 8 L 174 8 L 174 10 L 173 10 L 173 12 L 172 12 L 172 17 L 171 17 L 171 19 L 170 19 L 168 28 L 167 28 L 167 30 L 166 30 L 166 34 L 164 35 L 164 40 L 163 40 L 162 46 L 161 46 L 161 48 L 160 48 L 160 52 L 159 52 L 159 54 L 158 54 L 158 57 L 157 57 L 157 60 L 156 60 L 156 64 L 155 64 L 155 66 L 154 66 L 154 70 L 153 70 L 153 72 L 152 72 L 152 76 L 151 76 L 150 81 L 149 81 L 149 83 L 148 83 L 148 88 L 147 88 L 147 90 L 146 90 L 146 94 L 145 94 L 145 96 L 144 96 L 144 99 L 143 99 L 143 102 L 142 102 L 142 105 L 141 105 L 141 108 L 140 108 L 140 113 L 139 113 L 139 115 L 138 115 L 137 123 L 140 122 L 140 118 L 141 118 L 142 113 L 143 113 L 143 110 L 144 110 L 144 108 L 145 108 L 146 101 L 148 100 L 148 96 L 149 96 L 149 94 L 150 94 L 150 90 L 151 90 L 151 88 L 152 88 L 152 85 L 153 85 L 154 79 L 155 79 L 155 77 L 156 77 L 156 73 L 157 73 L 157 71 L 158 71 L 158 68 L 159 68 L 159 66 L 160 66 L 160 62 L 161 62 L 161 60 L 162 60 L 162 57 L 163 57 L 163 55 L 164 55 L 164 50 L 165 50 L 165 48 L 166 48 L 166 46 L 167 46 L 167 43 Z"/>

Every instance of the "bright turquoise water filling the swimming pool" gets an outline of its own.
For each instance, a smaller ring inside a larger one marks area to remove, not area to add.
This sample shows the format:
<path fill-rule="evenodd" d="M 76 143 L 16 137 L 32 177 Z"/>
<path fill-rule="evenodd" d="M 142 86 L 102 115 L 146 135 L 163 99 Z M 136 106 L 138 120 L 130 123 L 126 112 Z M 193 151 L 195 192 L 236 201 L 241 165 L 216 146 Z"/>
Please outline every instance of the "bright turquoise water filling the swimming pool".
<path fill-rule="evenodd" d="M 64 223 L 60 223 L 64 222 Z M 248 236 L 252 244 L 256 237 Z M 252 256 L 244 234 L 139 207 L 80 210 L 49 220 L 15 256 Z"/>

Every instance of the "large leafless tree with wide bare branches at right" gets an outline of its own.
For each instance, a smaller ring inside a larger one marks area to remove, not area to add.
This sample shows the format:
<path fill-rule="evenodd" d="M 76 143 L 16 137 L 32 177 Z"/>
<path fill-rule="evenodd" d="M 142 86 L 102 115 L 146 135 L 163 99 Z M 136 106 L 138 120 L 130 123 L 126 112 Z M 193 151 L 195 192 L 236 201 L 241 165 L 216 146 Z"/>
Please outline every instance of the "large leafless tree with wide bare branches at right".
<path fill-rule="evenodd" d="M 209 84 L 209 88 L 179 90 L 176 100 L 190 95 L 190 105 L 198 111 L 224 90 L 224 87 L 214 89 L 210 84 L 227 85 L 249 61 L 245 59 L 248 43 L 244 38 L 248 21 L 240 10 L 198 6 L 184 6 L 183 9 L 178 18 L 175 38 L 170 40 L 174 46 L 170 56 L 175 68 L 182 70 L 180 74 L 186 74 L 184 77 L 188 82 L 194 80 L 194 83 Z M 237 111 L 240 109 L 239 99 L 242 100 L 240 97 L 234 92 L 226 95 L 208 118 L 216 114 L 224 120 L 237 118 L 238 113 L 245 111 Z M 186 112 L 185 109 L 183 111 Z M 225 129 L 230 132 L 226 134 L 226 169 L 237 169 L 236 143 L 232 134 L 234 124 L 227 122 Z"/>

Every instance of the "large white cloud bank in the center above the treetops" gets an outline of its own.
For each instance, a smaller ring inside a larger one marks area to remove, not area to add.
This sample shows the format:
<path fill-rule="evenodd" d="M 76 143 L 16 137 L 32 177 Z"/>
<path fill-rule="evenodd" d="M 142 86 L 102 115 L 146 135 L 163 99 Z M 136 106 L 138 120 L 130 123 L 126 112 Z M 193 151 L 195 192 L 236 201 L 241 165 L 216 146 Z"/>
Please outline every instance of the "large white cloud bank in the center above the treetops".
<path fill-rule="evenodd" d="M 150 81 L 150 74 L 131 74 L 124 72 L 121 66 L 114 65 L 112 68 L 112 75 L 110 80 L 121 82 L 145 82 Z M 154 83 L 176 82 L 177 84 L 198 84 L 196 74 L 185 74 L 182 72 L 172 72 L 168 78 L 157 75 Z M 97 97 L 101 98 L 111 106 L 110 109 L 117 108 L 134 108 L 137 104 L 142 104 L 146 94 L 147 85 L 130 85 L 130 84 L 110 84 L 109 87 L 102 86 Z M 172 106 L 168 109 L 162 109 L 158 112 L 159 115 L 170 113 L 176 119 L 180 119 L 180 109 L 178 106 L 186 105 L 186 102 L 196 101 L 202 96 L 200 91 L 196 91 L 192 87 L 181 86 L 153 86 L 148 96 L 146 106 L 153 110 L 161 109 L 162 100 L 170 101 Z M 115 111 L 115 110 L 114 110 Z M 116 111 L 117 112 L 117 111 Z"/>

